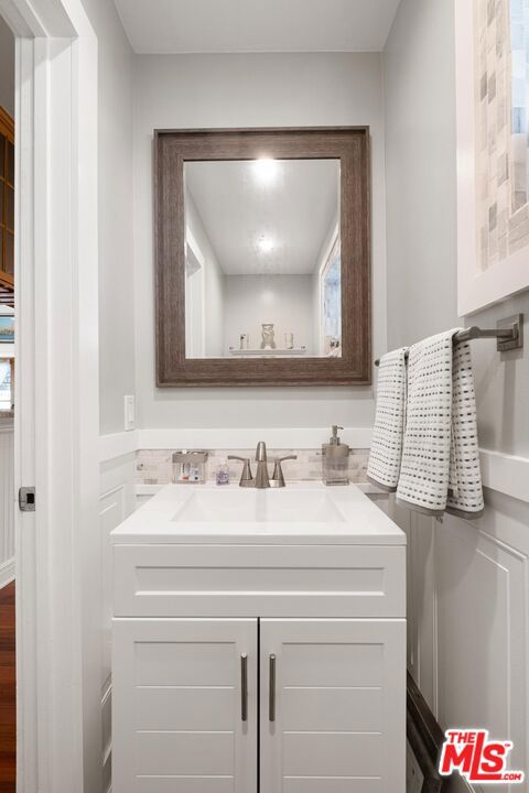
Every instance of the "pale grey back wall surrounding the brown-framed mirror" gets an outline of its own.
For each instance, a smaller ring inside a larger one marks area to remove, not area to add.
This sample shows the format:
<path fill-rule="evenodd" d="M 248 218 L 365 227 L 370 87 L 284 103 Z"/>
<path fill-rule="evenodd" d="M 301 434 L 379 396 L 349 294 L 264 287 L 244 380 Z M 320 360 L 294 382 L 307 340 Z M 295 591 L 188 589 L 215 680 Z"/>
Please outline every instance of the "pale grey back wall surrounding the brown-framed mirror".
<path fill-rule="evenodd" d="M 155 128 L 369 124 L 373 137 L 373 333 L 386 346 L 386 226 L 380 56 L 137 56 L 134 270 L 142 427 L 370 426 L 370 388 L 154 387 L 152 131 Z"/>

